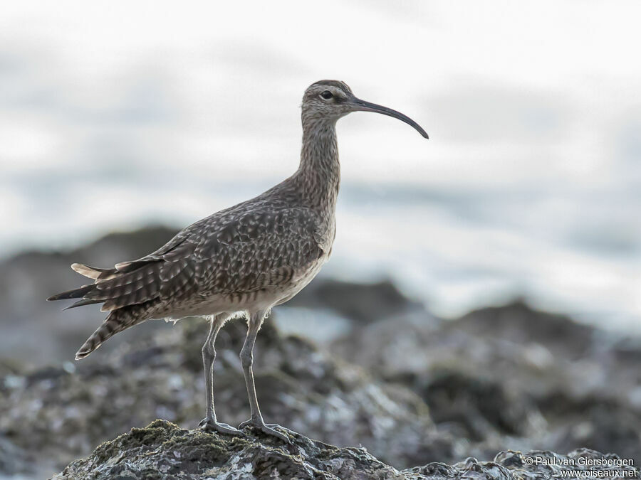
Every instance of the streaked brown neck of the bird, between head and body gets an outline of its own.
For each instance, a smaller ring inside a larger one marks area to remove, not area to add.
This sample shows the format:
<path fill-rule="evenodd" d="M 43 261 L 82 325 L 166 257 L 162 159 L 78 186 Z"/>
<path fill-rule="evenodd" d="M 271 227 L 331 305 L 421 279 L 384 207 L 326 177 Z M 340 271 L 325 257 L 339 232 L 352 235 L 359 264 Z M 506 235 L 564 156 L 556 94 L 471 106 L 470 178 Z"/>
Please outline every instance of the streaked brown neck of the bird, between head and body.
<path fill-rule="evenodd" d="M 303 148 L 296 177 L 309 206 L 333 213 L 340 186 L 335 121 L 303 115 Z"/>

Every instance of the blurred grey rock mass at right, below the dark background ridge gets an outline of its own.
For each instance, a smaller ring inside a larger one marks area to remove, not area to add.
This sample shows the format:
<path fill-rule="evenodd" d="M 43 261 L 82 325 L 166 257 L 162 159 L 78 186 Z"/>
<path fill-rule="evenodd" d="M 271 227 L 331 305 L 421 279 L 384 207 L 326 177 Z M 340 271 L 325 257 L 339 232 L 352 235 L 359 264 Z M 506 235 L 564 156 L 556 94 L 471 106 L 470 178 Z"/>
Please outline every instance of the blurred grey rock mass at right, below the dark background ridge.
<path fill-rule="evenodd" d="M 641 462 L 641 342 L 522 301 L 435 323 L 377 321 L 330 346 L 420 395 L 467 454 L 578 447 Z"/>

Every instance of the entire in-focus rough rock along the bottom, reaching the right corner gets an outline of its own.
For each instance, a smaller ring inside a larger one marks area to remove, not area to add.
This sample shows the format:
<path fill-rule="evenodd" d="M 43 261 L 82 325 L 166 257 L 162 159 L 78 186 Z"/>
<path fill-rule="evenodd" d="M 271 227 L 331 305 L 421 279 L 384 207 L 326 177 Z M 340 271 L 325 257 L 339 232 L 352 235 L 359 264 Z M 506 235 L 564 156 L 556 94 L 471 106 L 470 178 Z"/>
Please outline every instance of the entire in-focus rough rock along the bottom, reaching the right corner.
<path fill-rule="evenodd" d="M 181 430 L 165 420 L 155 420 L 101 444 L 88 458 L 72 462 L 53 480 L 511 480 L 560 478 L 562 472 L 576 470 L 607 471 L 607 476 L 618 472 L 632 477 L 639 473 L 632 466 L 620 465 L 615 455 L 587 449 L 568 455 L 500 452 L 492 462 L 470 458 L 454 465 L 434 462 L 399 471 L 363 448 L 337 448 L 294 432 L 287 434 L 291 444 L 253 430 L 244 437 L 229 437 Z M 590 460 L 606 464 L 591 466 Z"/>

